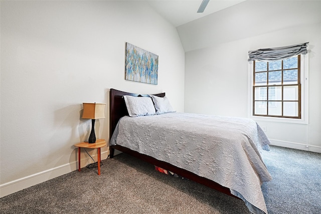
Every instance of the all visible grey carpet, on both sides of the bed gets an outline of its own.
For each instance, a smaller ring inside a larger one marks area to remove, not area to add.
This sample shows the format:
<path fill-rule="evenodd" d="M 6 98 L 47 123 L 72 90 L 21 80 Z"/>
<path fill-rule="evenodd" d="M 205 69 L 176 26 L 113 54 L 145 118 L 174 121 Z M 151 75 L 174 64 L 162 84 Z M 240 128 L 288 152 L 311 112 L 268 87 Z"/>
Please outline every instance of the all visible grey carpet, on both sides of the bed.
<path fill-rule="evenodd" d="M 271 146 L 269 214 L 321 213 L 321 154 Z M 166 175 L 127 154 L 0 198 L 0 213 L 250 213 L 242 200 Z"/>

